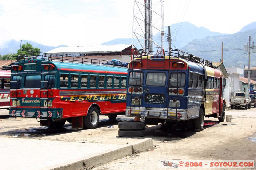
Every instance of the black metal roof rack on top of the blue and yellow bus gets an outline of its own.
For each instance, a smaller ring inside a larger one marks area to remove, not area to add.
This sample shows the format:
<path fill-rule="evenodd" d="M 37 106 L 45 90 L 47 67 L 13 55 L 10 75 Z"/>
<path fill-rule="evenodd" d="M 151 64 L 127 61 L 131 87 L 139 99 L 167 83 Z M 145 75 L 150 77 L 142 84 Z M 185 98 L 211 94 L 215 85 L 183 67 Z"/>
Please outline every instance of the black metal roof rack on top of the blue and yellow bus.
<path fill-rule="evenodd" d="M 205 66 L 216 68 L 212 64 L 212 62 L 205 60 L 203 58 L 197 57 L 195 55 L 183 52 L 179 49 L 173 49 L 173 48 L 162 48 L 162 47 L 153 47 L 153 48 L 144 48 L 144 49 L 138 49 L 134 51 L 134 58 L 139 58 L 142 56 L 148 56 L 148 55 L 165 55 L 165 56 L 172 56 L 172 57 L 178 57 L 195 62 L 195 63 L 202 63 Z"/>

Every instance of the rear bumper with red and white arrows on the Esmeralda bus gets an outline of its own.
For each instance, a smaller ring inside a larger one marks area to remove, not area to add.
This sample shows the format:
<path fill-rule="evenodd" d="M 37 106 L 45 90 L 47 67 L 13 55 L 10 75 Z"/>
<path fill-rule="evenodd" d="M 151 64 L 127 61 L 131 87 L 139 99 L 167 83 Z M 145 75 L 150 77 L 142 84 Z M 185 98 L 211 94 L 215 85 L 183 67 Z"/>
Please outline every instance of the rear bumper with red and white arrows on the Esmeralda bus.
<path fill-rule="evenodd" d="M 61 119 L 63 118 L 63 109 L 10 109 L 9 117 L 29 117 L 44 119 Z"/>

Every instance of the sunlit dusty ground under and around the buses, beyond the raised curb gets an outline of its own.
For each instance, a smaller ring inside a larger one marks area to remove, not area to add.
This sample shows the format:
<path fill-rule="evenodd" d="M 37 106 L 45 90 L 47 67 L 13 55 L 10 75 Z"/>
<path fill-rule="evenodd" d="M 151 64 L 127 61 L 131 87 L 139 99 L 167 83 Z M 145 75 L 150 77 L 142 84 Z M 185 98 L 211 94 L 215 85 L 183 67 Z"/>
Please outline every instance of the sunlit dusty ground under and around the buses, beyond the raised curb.
<path fill-rule="evenodd" d="M 5 113 L 8 111 L 0 110 L 0 115 Z M 152 138 L 154 147 L 149 151 L 95 169 L 169 169 L 160 162 L 164 160 L 255 160 L 256 108 L 226 109 L 226 115 L 232 115 L 232 122 L 219 123 L 217 118 L 205 118 L 201 132 L 183 132 L 173 126 L 171 132 L 166 133 L 160 131 L 158 125 L 148 126 L 146 136 L 137 138 L 118 136 L 118 122 L 132 120 L 125 116 L 111 121 L 101 115 L 97 129 L 85 130 L 72 128 L 68 122 L 62 129 L 51 129 L 40 127 L 33 118 L 7 118 L 0 119 L 0 137 L 121 145 Z"/>

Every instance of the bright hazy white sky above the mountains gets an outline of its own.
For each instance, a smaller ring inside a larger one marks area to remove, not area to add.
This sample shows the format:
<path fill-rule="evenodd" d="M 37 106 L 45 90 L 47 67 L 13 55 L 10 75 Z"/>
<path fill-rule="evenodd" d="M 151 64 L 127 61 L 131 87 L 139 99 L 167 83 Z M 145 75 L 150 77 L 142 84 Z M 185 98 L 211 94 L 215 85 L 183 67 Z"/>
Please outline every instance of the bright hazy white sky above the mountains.
<path fill-rule="evenodd" d="M 256 21 L 255 8 L 256 0 L 164 0 L 164 26 L 188 21 L 233 34 Z M 1 0 L 0 44 L 99 45 L 131 38 L 132 18 L 133 0 Z"/>

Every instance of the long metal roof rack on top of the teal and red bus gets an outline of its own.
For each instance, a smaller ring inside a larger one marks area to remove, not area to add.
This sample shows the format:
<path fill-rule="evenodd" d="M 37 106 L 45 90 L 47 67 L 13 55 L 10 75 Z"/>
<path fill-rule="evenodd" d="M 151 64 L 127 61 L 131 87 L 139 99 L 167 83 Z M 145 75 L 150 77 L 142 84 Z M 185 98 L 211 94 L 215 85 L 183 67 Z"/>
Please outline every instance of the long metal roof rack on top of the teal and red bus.
<path fill-rule="evenodd" d="M 67 55 L 56 55 L 56 54 L 53 55 L 53 54 L 41 53 L 41 52 L 24 53 L 16 57 L 17 57 L 17 62 L 29 60 L 29 59 L 41 59 L 45 61 L 54 61 L 54 62 L 61 62 L 61 63 L 78 63 L 78 64 L 102 65 L 102 66 L 111 66 L 111 67 L 127 67 L 128 65 L 128 63 L 126 62 L 115 61 L 115 60 L 108 61 L 108 60 L 84 58 L 84 57 L 77 57 L 77 56 L 71 57 Z M 14 63 L 14 61 L 12 61 L 12 63 Z"/>

